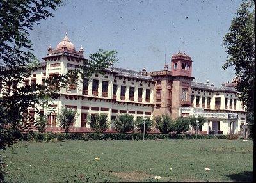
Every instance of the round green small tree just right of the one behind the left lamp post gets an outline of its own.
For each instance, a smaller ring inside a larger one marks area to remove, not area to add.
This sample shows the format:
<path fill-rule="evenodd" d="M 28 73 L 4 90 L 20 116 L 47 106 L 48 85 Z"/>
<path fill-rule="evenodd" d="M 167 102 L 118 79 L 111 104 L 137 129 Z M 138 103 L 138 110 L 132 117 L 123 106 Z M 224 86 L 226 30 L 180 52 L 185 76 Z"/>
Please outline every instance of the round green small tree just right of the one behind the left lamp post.
<path fill-rule="evenodd" d="M 169 115 L 159 115 L 154 118 L 156 122 L 156 128 L 163 134 L 168 134 L 171 131 L 175 131 L 175 124 Z"/>

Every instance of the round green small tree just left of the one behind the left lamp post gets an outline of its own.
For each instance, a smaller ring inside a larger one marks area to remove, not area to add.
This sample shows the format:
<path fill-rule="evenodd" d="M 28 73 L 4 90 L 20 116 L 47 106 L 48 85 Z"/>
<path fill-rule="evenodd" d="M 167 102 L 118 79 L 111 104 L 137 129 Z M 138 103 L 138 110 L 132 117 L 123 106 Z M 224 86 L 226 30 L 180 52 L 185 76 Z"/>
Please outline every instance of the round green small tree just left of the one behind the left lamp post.
<path fill-rule="evenodd" d="M 120 133 L 129 132 L 134 129 L 134 120 L 132 115 L 122 114 L 112 121 L 115 129 Z"/>

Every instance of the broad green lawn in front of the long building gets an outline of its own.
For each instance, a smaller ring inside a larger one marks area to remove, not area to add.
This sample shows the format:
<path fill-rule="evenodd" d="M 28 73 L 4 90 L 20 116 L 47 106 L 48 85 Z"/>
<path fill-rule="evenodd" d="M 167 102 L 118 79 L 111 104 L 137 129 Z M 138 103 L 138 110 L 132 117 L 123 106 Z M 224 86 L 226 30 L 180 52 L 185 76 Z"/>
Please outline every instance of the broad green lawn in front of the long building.
<path fill-rule="evenodd" d="M 253 142 L 242 139 L 23 141 L 1 158 L 7 182 L 157 182 L 156 175 L 158 182 L 249 182 L 253 175 Z"/>

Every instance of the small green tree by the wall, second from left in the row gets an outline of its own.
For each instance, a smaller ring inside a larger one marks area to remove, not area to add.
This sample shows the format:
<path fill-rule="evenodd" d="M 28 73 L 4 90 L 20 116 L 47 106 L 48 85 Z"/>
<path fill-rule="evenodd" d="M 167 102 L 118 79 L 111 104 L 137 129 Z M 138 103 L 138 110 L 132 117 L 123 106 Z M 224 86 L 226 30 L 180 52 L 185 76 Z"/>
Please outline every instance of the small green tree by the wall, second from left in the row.
<path fill-rule="evenodd" d="M 97 114 L 97 115 L 88 115 L 86 122 L 90 124 L 92 129 L 97 133 L 102 133 L 108 129 L 108 117 L 107 115 Z"/>

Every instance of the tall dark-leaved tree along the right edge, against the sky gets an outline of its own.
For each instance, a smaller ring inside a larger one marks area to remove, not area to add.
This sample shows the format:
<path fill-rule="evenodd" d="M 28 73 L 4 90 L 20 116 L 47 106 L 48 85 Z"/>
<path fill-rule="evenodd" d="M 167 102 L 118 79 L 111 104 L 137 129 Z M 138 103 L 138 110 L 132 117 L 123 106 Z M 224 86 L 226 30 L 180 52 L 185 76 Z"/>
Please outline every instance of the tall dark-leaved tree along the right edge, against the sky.
<path fill-rule="evenodd" d="M 236 71 L 236 90 L 239 100 L 246 106 L 250 136 L 255 139 L 254 94 L 255 94 L 255 2 L 245 0 L 230 25 L 229 32 L 223 38 L 223 47 L 228 59 L 223 69 L 233 66 Z"/>

